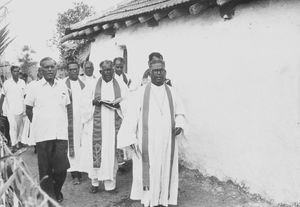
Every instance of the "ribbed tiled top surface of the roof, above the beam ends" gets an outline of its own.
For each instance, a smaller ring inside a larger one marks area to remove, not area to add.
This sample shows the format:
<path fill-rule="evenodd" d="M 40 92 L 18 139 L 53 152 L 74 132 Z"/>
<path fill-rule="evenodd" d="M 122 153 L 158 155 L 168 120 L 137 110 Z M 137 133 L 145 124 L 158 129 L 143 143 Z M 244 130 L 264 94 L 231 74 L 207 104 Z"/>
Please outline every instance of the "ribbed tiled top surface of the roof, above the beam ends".
<path fill-rule="evenodd" d="M 131 16 L 154 12 L 192 1 L 193 0 L 132 0 L 119 5 L 116 9 L 110 10 L 101 16 L 71 25 L 70 30 L 80 30 L 91 25 L 125 19 Z M 211 1 L 215 2 L 215 0 Z M 198 2 L 201 2 L 201 0 Z"/>

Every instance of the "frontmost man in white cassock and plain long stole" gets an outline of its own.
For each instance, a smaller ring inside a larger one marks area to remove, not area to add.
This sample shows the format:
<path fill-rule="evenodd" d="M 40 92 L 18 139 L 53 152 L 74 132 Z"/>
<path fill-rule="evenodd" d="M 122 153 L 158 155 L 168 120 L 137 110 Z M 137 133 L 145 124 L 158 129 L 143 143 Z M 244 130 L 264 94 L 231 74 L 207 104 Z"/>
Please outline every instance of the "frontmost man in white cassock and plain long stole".
<path fill-rule="evenodd" d="M 118 134 L 118 147 L 130 146 L 133 181 L 130 198 L 144 206 L 177 205 L 177 139 L 185 128 L 185 112 L 176 91 L 165 84 L 163 60 L 149 62 L 151 83 L 128 101 Z"/>

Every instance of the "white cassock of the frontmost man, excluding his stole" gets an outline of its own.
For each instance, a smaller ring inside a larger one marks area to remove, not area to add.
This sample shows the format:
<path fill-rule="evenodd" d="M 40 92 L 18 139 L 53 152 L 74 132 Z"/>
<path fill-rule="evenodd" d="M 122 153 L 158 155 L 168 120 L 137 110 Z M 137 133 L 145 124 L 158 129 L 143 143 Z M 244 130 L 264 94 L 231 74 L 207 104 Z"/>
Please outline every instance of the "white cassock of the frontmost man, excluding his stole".
<path fill-rule="evenodd" d="M 175 127 L 185 129 L 184 108 L 176 91 L 169 87 L 175 113 Z M 118 147 L 123 148 L 130 144 L 137 144 L 142 151 L 143 134 L 143 98 L 145 86 L 140 87 L 128 98 L 128 116 L 124 117 L 121 129 L 118 134 Z M 178 145 L 175 137 L 174 161 L 172 167 L 172 177 L 170 182 L 170 156 L 171 156 L 171 116 L 170 105 L 165 86 L 151 84 L 149 98 L 148 116 L 148 152 L 149 152 L 149 178 L 150 190 L 143 190 L 142 156 L 132 155 L 133 160 L 133 181 L 130 198 L 141 200 L 145 206 L 156 205 L 177 205 L 178 196 Z M 138 150 L 138 151 L 139 151 Z M 170 197 L 169 197 L 170 194 Z"/>

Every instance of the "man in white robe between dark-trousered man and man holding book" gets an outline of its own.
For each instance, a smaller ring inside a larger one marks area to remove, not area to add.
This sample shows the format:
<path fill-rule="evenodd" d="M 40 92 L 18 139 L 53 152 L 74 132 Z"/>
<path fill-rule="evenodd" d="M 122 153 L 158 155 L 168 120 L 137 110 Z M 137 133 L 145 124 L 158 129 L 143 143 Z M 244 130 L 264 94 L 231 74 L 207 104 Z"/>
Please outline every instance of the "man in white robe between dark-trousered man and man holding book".
<path fill-rule="evenodd" d="M 73 184 L 78 185 L 81 183 L 81 100 L 82 90 L 85 84 L 78 78 L 79 64 L 75 61 L 68 62 L 67 64 L 68 78 L 65 84 L 68 88 L 71 104 L 68 106 L 68 139 L 69 139 L 69 161 Z M 83 155 L 84 156 L 84 155 Z"/>

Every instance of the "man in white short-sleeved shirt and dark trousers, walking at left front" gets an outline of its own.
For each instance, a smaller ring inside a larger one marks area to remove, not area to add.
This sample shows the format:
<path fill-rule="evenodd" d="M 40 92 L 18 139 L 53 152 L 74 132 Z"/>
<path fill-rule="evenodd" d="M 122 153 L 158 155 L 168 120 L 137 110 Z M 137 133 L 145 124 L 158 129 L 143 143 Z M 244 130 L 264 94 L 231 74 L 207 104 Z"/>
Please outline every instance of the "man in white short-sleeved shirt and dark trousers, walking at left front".
<path fill-rule="evenodd" d="M 55 78 L 56 62 L 45 57 L 40 66 L 44 78 L 27 94 L 26 114 L 35 123 L 40 185 L 50 196 L 62 202 L 61 189 L 70 167 L 67 120 L 70 98 L 65 83 Z"/>

